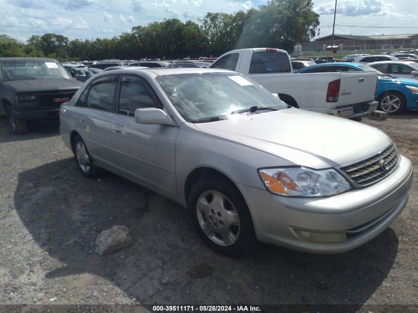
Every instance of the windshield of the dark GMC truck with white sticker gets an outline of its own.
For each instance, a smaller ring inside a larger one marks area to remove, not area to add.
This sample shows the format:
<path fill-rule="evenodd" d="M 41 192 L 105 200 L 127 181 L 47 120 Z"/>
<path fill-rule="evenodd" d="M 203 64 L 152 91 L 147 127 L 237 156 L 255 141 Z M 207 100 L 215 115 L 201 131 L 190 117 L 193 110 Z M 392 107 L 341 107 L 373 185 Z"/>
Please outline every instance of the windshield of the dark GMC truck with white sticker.
<path fill-rule="evenodd" d="M 3 82 L 28 79 L 65 78 L 71 76 L 57 61 L 15 60 L 0 62 Z"/>

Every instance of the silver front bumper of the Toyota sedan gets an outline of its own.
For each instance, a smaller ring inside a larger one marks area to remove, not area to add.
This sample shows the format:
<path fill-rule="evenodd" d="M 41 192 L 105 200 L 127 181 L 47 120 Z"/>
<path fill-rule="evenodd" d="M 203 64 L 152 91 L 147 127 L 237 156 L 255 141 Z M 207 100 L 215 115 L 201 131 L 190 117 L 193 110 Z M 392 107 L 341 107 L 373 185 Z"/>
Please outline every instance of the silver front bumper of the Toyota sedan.
<path fill-rule="evenodd" d="M 238 184 L 262 242 L 312 253 L 340 253 L 356 248 L 386 229 L 406 206 L 412 163 L 401 156 L 386 179 L 363 189 L 324 198 L 290 198 Z M 296 230 L 296 231 L 295 231 Z M 303 239 L 297 230 L 345 233 L 339 243 Z"/>

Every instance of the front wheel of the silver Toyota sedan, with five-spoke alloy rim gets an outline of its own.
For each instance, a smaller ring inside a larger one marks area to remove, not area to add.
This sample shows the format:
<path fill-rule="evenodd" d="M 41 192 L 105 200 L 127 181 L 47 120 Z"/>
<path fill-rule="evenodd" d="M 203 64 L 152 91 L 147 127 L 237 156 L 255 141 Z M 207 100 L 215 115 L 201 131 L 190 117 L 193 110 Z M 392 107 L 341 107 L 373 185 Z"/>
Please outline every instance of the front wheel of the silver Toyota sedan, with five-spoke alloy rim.
<path fill-rule="evenodd" d="M 210 177 L 198 180 L 188 207 L 199 236 L 213 250 L 237 256 L 257 245 L 247 204 L 232 183 Z"/>

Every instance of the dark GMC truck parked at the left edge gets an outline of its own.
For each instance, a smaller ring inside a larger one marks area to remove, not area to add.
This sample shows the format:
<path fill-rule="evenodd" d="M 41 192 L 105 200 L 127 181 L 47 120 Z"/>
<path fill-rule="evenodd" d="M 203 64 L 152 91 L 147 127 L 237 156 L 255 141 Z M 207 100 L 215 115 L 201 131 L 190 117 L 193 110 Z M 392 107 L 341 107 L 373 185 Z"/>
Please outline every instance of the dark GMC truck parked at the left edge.
<path fill-rule="evenodd" d="M 59 107 L 83 85 L 56 60 L 0 59 L 0 114 L 7 114 L 13 134 L 27 132 L 27 120 L 58 119 Z"/>

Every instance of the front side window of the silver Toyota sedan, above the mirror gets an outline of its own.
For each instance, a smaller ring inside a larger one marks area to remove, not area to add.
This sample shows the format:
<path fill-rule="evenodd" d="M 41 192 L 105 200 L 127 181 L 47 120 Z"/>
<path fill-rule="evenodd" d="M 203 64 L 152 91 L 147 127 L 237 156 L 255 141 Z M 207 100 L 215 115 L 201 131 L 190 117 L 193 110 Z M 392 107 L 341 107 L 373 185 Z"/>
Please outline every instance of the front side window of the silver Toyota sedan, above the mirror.
<path fill-rule="evenodd" d="M 137 77 L 122 77 L 118 114 L 134 116 L 136 109 L 161 108 Z"/>

